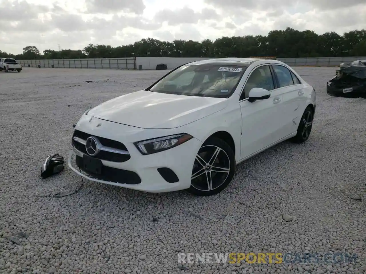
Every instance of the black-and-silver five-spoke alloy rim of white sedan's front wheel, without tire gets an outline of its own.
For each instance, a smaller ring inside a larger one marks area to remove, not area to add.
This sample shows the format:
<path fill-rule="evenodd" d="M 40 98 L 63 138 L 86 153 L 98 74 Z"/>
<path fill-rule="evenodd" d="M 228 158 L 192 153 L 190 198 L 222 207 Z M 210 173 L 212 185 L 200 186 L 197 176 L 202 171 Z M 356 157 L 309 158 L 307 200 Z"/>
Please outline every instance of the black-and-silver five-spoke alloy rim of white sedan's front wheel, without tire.
<path fill-rule="evenodd" d="M 230 173 L 227 153 L 216 145 L 202 146 L 195 158 L 191 186 L 200 191 L 211 191 L 220 187 Z"/>

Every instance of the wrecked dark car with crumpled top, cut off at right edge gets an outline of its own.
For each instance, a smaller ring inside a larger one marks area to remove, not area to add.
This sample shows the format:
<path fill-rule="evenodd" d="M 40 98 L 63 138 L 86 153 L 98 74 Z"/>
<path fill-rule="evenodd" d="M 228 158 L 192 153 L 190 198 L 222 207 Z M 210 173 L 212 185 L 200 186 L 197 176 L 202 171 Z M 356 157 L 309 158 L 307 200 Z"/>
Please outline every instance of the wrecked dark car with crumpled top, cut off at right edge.
<path fill-rule="evenodd" d="M 327 83 L 326 93 L 332 96 L 366 96 L 366 60 L 340 64 L 336 76 Z"/>

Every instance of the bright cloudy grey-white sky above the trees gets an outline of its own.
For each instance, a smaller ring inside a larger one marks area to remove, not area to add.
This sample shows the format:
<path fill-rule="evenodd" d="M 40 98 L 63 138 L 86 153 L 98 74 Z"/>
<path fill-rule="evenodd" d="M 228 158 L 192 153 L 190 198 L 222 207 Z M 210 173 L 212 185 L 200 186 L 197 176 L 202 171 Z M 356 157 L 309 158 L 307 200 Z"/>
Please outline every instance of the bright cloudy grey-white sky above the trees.
<path fill-rule="evenodd" d="M 291 4 L 288 4 L 291 3 Z M 0 0 L 0 50 L 366 28 L 366 0 Z"/>

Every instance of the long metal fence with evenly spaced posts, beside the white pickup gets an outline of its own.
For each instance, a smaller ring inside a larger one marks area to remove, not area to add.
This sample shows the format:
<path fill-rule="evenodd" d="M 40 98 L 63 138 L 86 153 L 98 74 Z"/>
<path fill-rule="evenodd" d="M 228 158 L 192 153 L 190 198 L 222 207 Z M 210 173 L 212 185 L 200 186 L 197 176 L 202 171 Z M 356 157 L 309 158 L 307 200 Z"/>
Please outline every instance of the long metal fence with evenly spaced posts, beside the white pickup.
<path fill-rule="evenodd" d="M 31 68 L 136 69 L 136 57 L 18 60 L 18 62 Z"/>

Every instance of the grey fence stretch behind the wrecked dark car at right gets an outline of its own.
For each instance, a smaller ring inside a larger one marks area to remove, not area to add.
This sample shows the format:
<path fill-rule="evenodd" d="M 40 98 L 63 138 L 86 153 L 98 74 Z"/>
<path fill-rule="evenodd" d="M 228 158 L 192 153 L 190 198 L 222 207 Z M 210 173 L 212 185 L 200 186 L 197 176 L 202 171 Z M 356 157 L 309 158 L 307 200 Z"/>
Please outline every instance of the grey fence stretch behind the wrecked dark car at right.
<path fill-rule="evenodd" d="M 318 58 L 277 58 L 289 66 L 339 66 L 356 60 L 366 60 L 366 57 L 318 57 Z"/>

